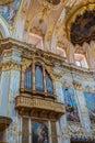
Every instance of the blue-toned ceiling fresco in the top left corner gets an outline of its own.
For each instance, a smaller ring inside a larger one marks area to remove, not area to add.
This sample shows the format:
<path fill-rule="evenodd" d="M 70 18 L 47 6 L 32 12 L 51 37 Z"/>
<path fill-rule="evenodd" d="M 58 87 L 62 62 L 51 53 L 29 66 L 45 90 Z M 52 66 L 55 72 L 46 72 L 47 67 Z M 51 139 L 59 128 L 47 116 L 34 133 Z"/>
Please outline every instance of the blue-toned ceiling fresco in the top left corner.
<path fill-rule="evenodd" d="M 20 0 L 11 0 L 12 2 L 4 2 L 0 4 L 0 15 L 2 15 L 9 24 L 12 24 L 14 16 L 20 7 Z"/>

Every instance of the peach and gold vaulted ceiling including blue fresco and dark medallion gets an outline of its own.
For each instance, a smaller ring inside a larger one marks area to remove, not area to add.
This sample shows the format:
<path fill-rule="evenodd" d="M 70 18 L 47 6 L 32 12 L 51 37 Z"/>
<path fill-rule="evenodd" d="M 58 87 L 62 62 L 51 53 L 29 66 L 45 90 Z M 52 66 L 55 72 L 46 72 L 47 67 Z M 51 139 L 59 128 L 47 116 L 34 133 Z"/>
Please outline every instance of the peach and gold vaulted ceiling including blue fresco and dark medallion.
<path fill-rule="evenodd" d="M 46 50 L 56 51 L 57 46 L 67 48 L 94 40 L 94 8 L 95 0 L 2 0 L 0 14 L 13 26 L 11 31 L 23 29 L 25 42 L 23 35 L 37 34 Z"/>

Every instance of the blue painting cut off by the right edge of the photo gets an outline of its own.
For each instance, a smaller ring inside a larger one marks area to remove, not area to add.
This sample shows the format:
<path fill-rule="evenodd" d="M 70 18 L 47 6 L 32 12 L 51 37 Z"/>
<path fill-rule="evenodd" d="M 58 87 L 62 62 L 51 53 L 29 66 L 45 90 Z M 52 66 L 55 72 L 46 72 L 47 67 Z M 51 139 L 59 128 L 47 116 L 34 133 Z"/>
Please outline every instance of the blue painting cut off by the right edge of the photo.
<path fill-rule="evenodd" d="M 95 121 L 95 92 L 84 92 L 91 121 Z"/>

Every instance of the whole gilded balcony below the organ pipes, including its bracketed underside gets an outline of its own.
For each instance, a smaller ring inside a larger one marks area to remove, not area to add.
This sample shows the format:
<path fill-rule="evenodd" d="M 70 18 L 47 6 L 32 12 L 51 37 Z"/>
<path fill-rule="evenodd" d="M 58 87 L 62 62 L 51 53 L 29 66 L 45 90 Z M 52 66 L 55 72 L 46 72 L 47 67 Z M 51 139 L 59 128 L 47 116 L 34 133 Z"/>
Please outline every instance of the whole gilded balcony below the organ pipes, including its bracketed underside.
<path fill-rule="evenodd" d="M 15 109 L 19 110 L 20 114 L 27 112 L 32 117 L 55 119 L 60 118 L 64 113 L 64 107 L 60 102 L 25 96 L 17 96 L 15 98 Z"/>

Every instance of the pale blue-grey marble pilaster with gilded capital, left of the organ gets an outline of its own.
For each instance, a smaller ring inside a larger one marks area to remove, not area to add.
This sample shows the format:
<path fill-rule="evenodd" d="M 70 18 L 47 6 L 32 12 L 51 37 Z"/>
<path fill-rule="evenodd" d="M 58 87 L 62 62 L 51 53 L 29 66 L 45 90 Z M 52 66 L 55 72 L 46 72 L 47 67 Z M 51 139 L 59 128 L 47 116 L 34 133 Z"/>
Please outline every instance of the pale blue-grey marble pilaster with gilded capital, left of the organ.
<path fill-rule="evenodd" d="M 19 140 L 19 120 L 15 111 L 15 97 L 20 91 L 21 52 L 15 47 L 4 50 L 2 54 L 0 116 L 9 117 L 12 123 L 7 133 L 7 142 Z"/>

